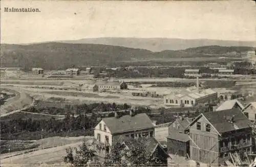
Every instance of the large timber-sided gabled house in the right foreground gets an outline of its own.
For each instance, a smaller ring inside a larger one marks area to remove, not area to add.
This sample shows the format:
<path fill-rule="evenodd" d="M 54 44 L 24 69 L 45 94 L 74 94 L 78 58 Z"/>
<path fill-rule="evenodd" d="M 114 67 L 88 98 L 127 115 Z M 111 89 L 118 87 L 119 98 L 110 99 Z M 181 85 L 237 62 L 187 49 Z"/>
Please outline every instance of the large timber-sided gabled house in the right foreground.
<path fill-rule="evenodd" d="M 237 108 L 201 113 L 188 128 L 192 160 L 241 165 L 252 152 L 250 121 Z"/>

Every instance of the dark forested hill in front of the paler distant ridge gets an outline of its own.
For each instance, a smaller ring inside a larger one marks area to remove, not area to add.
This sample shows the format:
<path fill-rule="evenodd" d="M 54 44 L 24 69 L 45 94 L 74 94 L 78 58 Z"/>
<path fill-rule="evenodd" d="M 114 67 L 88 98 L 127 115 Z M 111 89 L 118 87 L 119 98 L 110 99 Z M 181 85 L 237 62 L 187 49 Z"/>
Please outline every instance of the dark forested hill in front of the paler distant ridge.
<path fill-rule="evenodd" d="M 231 51 L 246 51 L 251 47 L 203 46 L 180 51 L 152 52 L 123 46 L 48 42 L 29 45 L 1 44 L 2 67 L 42 67 L 63 69 L 82 65 L 118 65 L 119 62 L 140 62 L 219 56 Z"/>

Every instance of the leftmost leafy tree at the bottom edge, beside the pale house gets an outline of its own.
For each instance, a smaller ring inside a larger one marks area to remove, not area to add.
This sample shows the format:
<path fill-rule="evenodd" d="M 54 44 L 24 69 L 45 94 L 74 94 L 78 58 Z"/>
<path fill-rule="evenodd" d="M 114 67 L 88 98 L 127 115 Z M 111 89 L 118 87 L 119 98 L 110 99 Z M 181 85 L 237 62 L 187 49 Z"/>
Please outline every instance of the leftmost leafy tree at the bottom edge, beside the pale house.
<path fill-rule="evenodd" d="M 66 149 L 67 155 L 63 158 L 65 163 L 70 163 L 73 166 L 87 166 L 93 161 L 94 150 L 90 149 L 91 145 L 83 142 L 79 148 L 74 148 L 75 154 L 71 147 Z"/>

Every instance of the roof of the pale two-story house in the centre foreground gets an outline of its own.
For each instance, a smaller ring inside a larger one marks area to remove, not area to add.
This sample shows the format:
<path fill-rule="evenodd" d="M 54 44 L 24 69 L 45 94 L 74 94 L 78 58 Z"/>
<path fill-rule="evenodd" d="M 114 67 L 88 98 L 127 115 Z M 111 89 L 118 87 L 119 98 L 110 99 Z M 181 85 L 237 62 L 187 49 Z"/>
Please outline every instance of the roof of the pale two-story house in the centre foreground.
<path fill-rule="evenodd" d="M 154 127 L 150 117 L 145 113 L 136 114 L 134 116 L 124 115 L 120 118 L 108 117 L 102 120 L 112 134 Z"/>

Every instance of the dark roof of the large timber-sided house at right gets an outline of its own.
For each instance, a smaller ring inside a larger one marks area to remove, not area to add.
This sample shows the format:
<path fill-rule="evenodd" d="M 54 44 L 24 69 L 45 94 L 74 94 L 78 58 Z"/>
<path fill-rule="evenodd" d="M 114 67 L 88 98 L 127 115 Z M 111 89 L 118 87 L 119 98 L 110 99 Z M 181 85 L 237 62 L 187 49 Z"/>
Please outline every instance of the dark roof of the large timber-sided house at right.
<path fill-rule="evenodd" d="M 249 128 L 250 125 L 248 118 L 237 108 L 216 112 L 205 112 L 202 114 L 219 133 Z M 234 115 L 233 124 L 227 121 L 232 115 Z"/>

